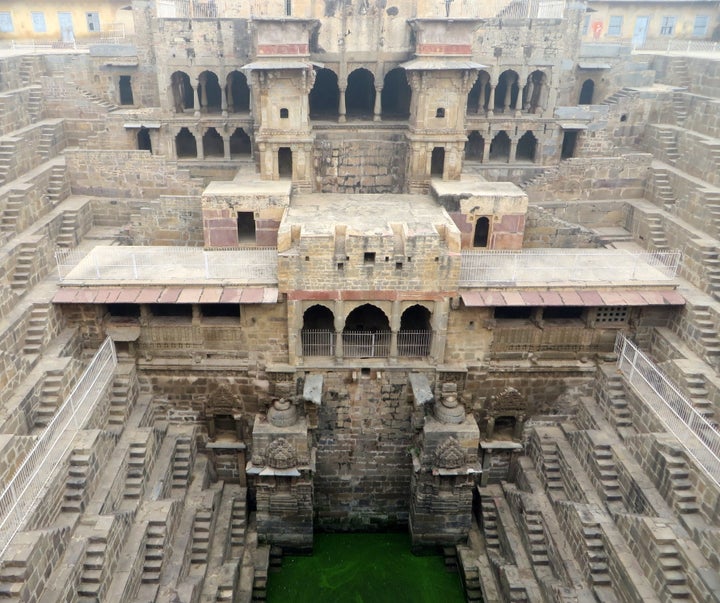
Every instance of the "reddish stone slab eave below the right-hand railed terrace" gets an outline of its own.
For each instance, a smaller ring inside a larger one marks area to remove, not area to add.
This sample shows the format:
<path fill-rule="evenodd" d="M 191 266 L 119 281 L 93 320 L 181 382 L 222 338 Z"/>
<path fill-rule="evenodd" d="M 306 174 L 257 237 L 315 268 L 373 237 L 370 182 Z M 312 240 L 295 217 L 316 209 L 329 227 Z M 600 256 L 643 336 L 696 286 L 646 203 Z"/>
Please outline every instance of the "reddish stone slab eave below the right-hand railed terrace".
<path fill-rule="evenodd" d="M 684 306 L 677 291 L 464 291 L 466 306 Z"/>

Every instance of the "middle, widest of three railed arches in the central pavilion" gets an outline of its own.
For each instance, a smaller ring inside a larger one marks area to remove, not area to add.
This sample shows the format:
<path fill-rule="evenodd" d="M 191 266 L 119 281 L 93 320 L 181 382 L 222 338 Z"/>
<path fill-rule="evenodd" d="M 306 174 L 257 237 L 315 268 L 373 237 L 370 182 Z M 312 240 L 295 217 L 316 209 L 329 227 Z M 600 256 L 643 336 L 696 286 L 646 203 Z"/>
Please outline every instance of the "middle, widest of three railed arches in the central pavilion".
<path fill-rule="evenodd" d="M 349 358 L 383 358 L 390 355 L 390 321 L 372 304 L 348 314 L 343 329 L 343 353 Z"/>

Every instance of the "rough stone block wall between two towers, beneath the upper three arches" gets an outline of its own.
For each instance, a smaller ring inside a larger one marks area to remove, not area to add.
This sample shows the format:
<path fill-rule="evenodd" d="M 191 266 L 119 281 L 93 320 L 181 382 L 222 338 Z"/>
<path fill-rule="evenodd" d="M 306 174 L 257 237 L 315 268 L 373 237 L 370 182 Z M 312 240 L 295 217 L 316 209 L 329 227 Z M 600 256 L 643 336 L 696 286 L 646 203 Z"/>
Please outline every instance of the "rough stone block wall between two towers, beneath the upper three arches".
<path fill-rule="evenodd" d="M 315 189 L 323 193 L 403 193 L 407 140 L 377 128 L 316 130 Z"/>

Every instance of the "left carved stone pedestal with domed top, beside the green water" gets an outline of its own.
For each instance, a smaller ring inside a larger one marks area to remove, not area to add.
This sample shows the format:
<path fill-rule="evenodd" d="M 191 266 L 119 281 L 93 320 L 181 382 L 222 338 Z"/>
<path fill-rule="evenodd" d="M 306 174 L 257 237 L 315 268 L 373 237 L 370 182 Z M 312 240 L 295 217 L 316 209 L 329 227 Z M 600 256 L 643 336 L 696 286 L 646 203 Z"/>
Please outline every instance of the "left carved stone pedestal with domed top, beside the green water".
<path fill-rule="evenodd" d="M 315 451 L 309 446 L 307 421 L 285 406 L 269 412 L 276 424 L 258 416 L 253 426 L 247 474 L 257 491 L 258 541 L 285 552 L 311 553 Z"/>

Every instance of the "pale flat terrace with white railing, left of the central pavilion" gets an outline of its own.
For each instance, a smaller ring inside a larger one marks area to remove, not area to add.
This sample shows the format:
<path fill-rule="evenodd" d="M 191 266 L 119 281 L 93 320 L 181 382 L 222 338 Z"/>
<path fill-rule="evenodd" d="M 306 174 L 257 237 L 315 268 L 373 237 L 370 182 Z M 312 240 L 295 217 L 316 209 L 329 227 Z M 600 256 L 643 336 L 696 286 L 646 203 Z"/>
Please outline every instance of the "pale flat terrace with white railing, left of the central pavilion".
<path fill-rule="evenodd" d="M 158 285 L 193 281 L 277 282 L 274 247 L 97 246 L 87 254 L 77 249 L 58 249 L 55 260 L 63 282 L 147 281 Z"/>

